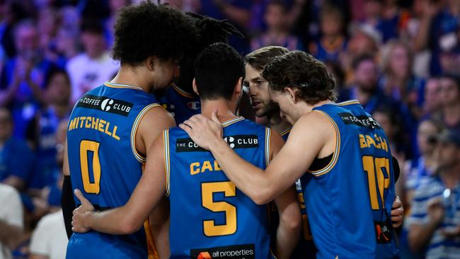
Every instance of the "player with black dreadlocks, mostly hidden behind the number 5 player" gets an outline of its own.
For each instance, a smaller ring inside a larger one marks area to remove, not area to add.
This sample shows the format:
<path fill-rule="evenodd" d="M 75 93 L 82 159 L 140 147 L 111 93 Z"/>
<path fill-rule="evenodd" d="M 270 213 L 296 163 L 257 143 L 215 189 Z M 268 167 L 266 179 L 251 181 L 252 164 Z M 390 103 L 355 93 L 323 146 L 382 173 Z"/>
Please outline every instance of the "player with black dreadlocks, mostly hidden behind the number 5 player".
<path fill-rule="evenodd" d="M 160 98 L 161 105 L 174 116 L 176 124 L 182 123 L 192 115 L 199 114 L 201 110 L 200 98 L 192 89 L 192 81 L 195 77 L 193 64 L 197 55 L 212 43 L 227 43 L 230 35 L 243 37 L 229 21 L 219 21 L 197 13 L 187 14 L 195 23 L 199 33 L 198 39 L 194 45 L 190 46 L 192 51 L 180 61 L 180 76 L 166 91 L 166 94 Z M 253 120 L 253 111 L 246 93 L 243 93 L 238 111 L 243 117 Z"/>

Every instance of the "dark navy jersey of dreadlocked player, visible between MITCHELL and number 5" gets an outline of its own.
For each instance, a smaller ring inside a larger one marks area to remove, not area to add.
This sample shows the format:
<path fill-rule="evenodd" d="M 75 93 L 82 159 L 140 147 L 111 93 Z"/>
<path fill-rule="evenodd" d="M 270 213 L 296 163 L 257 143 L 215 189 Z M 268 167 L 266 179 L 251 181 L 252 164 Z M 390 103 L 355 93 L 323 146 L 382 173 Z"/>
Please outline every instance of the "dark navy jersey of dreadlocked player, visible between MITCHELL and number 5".
<path fill-rule="evenodd" d="M 160 103 L 173 115 L 176 125 L 201 113 L 200 97 L 183 91 L 175 84 L 172 84 L 166 95 L 160 98 Z"/>

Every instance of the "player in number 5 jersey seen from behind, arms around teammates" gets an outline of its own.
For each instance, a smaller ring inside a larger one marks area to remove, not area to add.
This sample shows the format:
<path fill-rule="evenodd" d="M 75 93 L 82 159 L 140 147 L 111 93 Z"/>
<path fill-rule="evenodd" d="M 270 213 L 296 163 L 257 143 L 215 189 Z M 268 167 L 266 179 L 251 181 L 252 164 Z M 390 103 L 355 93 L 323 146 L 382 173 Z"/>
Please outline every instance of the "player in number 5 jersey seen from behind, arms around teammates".
<path fill-rule="evenodd" d="M 229 45 L 215 43 L 197 57 L 195 69 L 194 90 L 203 116 L 219 110 L 228 145 L 252 165 L 265 168 L 283 141 L 271 129 L 234 115 L 243 58 Z M 74 212 L 74 231 L 135 231 L 166 193 L 171 202 L 171 258 L 273 258 L 267 208 L 236 189 L 212 154 L 198 148 L 182 129 L 163 132 L 147 156 L 144 175 L 123 207 L 93 212 L 76 191 L 82 206 Z M 300 213 L 292 188 L 280 194 L 275 197 L 280 210 L 277 255 L 289 258 L 299 236 Z"/>

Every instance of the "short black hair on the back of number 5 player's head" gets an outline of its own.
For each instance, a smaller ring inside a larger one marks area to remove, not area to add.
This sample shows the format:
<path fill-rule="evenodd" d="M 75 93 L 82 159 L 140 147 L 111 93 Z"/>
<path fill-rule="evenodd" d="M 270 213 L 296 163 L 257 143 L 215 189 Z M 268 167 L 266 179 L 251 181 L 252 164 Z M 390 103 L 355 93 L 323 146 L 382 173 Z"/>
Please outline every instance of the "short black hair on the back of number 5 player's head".
<path fill-rule="evenodd" d="M 230 100 L 240 77 L 244 77 L 243 57 L 233 47 L 214 43 L 198 54 L 195 81 L 200 98 Z"/>

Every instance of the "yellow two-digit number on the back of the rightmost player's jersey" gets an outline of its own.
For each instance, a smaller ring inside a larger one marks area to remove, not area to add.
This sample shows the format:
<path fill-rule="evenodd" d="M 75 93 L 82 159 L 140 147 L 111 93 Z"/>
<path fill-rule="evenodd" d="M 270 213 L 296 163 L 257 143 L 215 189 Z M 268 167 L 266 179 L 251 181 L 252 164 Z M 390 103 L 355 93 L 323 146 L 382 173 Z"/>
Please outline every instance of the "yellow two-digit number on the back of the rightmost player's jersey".
<path fill-rule="evenodd" d="M 380 209 L 379 198 L 384 207 L 384 190 L 390 185 L 390 161 L 386 158 L 363 156 L 362 165 L 369 181 L 369 195 L 372 209 Z M 385 171 L 384 171 L 385 169 Z"/>

